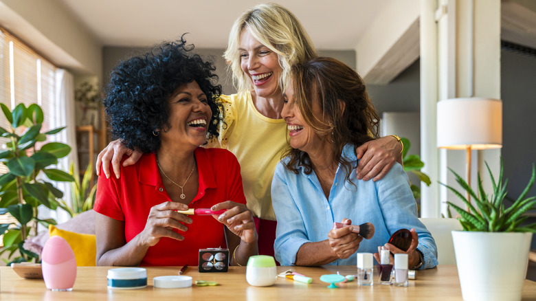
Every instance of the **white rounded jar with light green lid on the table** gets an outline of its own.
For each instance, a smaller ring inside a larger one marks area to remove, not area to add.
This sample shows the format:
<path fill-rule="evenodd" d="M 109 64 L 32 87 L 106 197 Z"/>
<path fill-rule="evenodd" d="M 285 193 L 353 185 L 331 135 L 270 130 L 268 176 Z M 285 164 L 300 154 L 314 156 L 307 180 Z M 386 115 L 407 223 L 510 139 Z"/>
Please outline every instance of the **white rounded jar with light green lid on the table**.
<path fill-rule="evenodd" d="M 246 280 L 254 287 L 269 287 L 278 278 L 276 260 L 272 256 L 256 255 L 247 260 Z"/>

